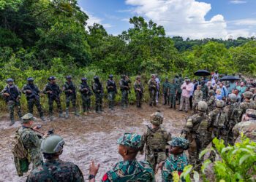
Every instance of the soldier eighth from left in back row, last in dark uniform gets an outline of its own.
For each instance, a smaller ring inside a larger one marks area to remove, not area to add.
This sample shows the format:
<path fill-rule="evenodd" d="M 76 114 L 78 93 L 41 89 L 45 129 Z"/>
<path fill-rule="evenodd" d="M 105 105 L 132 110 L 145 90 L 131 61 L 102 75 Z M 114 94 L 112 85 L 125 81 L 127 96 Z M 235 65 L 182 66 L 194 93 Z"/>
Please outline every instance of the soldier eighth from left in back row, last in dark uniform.
<path fill-rule="evenodd" d="M 121 106 L 122 108 L 128 107 L 128 94 L 129 94 L 129 83 L 131 83 L 130 79 L 126 75 L 121 76 L 121 80 L 119 82 L 120 90 L 121 90 Z"/>

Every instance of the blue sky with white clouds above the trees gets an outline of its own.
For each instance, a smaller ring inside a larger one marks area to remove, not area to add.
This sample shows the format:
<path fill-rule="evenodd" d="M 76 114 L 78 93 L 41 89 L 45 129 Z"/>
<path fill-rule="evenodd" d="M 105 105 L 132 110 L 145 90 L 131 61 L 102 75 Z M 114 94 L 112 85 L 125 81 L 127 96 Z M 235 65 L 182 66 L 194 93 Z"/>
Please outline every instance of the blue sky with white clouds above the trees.
<path fill-rule="evenodd" d="M 118 35 L 142 16 L 184 39 L 236 39 L 256 36 L 256 0 L 78 0 L 88 25 L 102 24 Z"/>

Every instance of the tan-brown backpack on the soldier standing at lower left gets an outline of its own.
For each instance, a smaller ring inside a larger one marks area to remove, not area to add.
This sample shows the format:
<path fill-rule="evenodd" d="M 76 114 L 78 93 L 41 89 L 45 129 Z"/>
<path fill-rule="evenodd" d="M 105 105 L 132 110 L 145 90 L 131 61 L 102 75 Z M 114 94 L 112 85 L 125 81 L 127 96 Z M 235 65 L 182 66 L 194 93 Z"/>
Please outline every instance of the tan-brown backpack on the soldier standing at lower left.
<path fill-rule="evenodd" d="M 18 133 L 18 130 L 15 132 L 15 137 L 11 143 L 12 145 L 12 154 L 14 157 L 18 159 L 25 159 L 28 157 L 28 151 L 23 145 L 23 142 L 21 141 L 21 135 L 23 132 L 20 134 Z"/>

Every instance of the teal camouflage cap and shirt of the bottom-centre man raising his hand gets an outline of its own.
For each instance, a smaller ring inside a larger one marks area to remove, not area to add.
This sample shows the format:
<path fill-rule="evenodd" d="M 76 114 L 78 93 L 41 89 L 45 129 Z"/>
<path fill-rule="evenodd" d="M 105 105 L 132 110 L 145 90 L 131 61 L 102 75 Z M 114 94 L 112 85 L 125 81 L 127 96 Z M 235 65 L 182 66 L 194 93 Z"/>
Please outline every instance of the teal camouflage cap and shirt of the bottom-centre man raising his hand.
<path fill-rule="evenodd" d="M 126 133 L 119 138 L 117 143 L 119 145 L 128 146 L 132 149 L 141 148 L 141 137 L 137 134 Z M 121 161 L 116 163 L 111 170 L 109 170 L 102 178 L 102 181 L 155 181 L 154 170 L 151 165 L 145 161 Z"/>

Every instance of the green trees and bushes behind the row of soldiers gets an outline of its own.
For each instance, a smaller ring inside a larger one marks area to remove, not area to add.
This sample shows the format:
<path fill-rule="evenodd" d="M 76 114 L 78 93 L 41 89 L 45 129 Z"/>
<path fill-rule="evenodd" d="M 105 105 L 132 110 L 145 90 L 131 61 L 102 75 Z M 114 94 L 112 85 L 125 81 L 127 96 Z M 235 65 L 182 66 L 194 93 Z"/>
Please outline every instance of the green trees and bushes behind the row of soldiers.
<path fill-rule="evenodd" d="M 199 68 L 256 75 L 253 38 L 170 38 L 162 26 L 143 17 L 132 17 L 133 27 L 113 36 L 99 24 L 86 30 L 89 17 L 76 0 L 1 0 L 0 9 L 0 89 L 8 77 L 22 87 L 33 76 L 42 89 L 50 75 L 61 84 L 67 74 L 76 84 L 80 77 L 91 80 L 94 74 L 104 82 L 108 74 L 116 75 L 116 81 L 120 74 L 141 74 L 146 83 L 152 73 L 192 76 Z"/>

